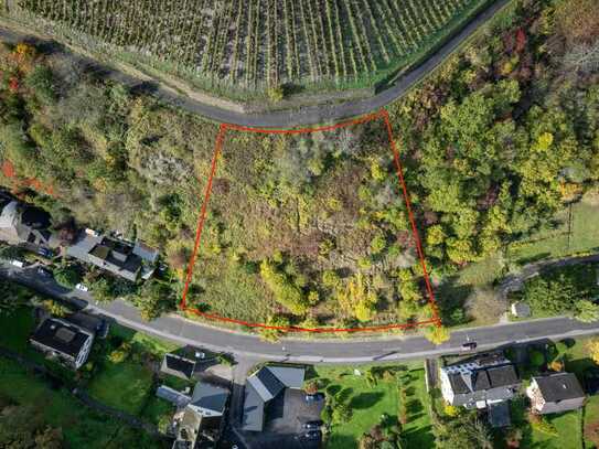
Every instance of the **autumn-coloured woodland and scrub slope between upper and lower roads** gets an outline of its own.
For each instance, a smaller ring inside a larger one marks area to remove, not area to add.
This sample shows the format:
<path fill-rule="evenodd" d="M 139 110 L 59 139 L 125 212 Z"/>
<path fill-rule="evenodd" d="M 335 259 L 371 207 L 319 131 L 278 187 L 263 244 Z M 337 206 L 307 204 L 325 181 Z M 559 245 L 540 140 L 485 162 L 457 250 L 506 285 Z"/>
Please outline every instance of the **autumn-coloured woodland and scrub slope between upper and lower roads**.
<path fill-rule="evenodd" d="M 436 286 L 553 216 L 599 178 L 599 4 L 516 1 L 387 110 Z M 28 44 L 2 49 L 2 184 L 159 246 L 182 289 L 218 131 Z M 85 111 L 85 114 L 82 114 Z M 190 300 L 317 325 L 430 317 L 384 127 L 227 132 Z M 443 322 L 469 311 L 437 296 Z M 143 300 L 140 300 L 143 302 Z"/>

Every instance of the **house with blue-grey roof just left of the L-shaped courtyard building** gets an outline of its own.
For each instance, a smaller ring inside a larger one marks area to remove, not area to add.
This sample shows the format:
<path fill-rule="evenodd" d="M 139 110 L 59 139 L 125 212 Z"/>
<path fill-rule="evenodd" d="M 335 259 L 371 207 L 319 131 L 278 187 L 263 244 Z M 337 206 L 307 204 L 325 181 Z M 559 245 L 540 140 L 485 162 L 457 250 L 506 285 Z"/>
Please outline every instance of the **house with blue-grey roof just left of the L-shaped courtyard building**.
<path fill-rule="evenodd" d="M 228 396 L 227 388 L 199 382 L 193 388 L 191 398 L 188 396 L 189 402 L 184 407 L 179 407 L 173 417 L 173 430 L 177 436 L 173 449 L 193 449 L 201 440 L 217 441 L 225 424 L 223 417 Z M 177 397 L 175 400 L 181 400 L 181 397 Z"/>

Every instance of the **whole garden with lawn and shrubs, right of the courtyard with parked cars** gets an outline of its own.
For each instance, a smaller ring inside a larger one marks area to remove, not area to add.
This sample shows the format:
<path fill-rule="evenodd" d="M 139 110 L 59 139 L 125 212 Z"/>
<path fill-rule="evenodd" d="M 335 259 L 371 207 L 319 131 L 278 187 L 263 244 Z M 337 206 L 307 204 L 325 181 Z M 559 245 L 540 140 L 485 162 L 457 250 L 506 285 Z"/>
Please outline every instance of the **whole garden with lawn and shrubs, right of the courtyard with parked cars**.
<path fill-rule="evenodd" d="M 357 448 L 361 441 L 432 446 L 430 403 L 420 363 L 313 370 L 307 382 L 327 395 L 328 448 Z"/>

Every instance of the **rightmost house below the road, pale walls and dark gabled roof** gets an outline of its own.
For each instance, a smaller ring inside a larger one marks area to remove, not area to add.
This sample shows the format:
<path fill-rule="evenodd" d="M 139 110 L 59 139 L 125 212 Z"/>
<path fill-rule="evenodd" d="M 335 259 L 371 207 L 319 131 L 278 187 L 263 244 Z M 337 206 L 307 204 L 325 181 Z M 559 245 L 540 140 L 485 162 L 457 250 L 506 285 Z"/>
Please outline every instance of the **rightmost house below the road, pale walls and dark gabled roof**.
<path fill-rule="evenodd" d="M 585 392 L 573 373 L 533 377 L 526 396 L 541 415 L 575 410 L 585 404 Z"/>

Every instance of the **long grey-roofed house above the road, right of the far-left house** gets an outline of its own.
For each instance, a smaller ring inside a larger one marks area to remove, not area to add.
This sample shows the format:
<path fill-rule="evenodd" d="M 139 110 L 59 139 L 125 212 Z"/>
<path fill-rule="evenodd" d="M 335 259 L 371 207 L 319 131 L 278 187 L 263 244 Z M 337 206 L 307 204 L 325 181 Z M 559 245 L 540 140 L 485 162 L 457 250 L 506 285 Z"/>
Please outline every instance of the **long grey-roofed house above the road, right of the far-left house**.
<path fill-rule="evenodd" d="M 73 245 L 67 247 L 66 254 L 130 281 L 140 277 L 148 279 L 158 258 L 158 252 L 150 250 L 145 245 L 131 245 L 90 229 L 81 232 Z"/>

